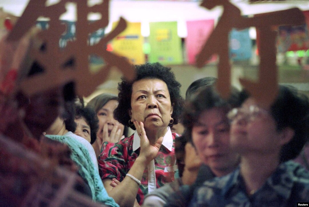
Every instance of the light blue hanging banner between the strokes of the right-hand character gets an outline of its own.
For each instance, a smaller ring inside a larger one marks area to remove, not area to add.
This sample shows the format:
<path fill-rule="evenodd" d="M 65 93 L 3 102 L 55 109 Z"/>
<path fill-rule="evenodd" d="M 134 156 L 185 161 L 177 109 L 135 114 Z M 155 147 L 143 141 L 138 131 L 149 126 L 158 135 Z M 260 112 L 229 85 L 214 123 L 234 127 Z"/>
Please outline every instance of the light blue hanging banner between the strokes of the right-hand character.
<path fill-rule="evenodd" d="M 232 60 L 248 60 L 252 57 L 252 40 L 249 36 L 249 29 L 230 32 L 230 58 Z"/>

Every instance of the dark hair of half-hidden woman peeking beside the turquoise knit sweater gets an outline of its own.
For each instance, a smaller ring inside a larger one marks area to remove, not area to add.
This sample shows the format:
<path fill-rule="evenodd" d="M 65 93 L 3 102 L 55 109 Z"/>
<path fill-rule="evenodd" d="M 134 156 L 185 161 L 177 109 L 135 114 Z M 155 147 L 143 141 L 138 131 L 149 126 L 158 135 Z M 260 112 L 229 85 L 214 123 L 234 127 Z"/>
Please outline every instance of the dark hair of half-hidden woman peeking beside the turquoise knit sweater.
<path fill-rule="evenodd" d="M 96 140 L 96 133 L 99 128 L 99 120 L 95 111 L 90 107 L 76 106 L 75 118 L 84 118 L 90 127 L 90 144 Z"/>

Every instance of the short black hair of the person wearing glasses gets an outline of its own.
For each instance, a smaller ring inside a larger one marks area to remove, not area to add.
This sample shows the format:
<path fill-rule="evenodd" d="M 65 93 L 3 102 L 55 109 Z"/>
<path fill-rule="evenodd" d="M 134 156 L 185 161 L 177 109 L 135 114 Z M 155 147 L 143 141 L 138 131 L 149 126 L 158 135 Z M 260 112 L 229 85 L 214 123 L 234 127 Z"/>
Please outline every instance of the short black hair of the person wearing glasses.
<path fill-rule="evenodd" d="M 270 114 L 277 122 L 277 130 L 290 127 L 294 136 L 282 146 L 280 161 L 294 159 L 309 140 L 308 97 L 292 86 L 279 85 L 278 96 L 270 107 Z"/>

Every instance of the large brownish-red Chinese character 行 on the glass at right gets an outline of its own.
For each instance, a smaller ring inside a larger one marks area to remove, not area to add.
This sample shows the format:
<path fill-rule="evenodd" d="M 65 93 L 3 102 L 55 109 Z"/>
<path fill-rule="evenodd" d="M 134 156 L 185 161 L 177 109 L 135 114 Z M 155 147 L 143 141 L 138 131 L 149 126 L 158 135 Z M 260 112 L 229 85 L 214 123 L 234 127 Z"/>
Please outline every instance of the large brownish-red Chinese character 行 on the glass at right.
<path fill-rule="evenodd" d="M 223 6 L 218 25 L 197 55 L 197 67 L 202 67 L 213 54 L 218 54 L 217 89 L 223 97 L 228 97 L 231 85 L 231 65 L 229 60 L 229 32 L 232 28 L 256 27 L 260 37 L 260 68 L 257 82 L 240 78 L 240 83 L 262 106 L 269 106 L 277 95 L 276 38 L 274 28 L 280 25 L 299 25 L 305 18 L 297 8 L 255 15 L 243 18 L 240 10 L 228 0 L 204 0 L 201 6 L 213 9 Z M 267 91 L 267 93 L 265 93 Z"/>

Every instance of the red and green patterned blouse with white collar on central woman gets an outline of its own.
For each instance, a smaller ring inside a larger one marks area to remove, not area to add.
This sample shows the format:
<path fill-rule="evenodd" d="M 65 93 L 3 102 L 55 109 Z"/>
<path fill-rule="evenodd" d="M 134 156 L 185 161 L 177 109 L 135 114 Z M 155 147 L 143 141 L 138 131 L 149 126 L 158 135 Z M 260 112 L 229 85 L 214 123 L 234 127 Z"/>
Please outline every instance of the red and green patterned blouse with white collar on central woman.
<path fill-rule="evenodd" d="M 167 134 L 171 135 L 167 136 Z M 99 173 L 102 180 L 105 178 L 116 178 L 121 182 L 125 178 L 125 175 L 131 169 L 140 152 L 140 147 L 138 147 L 135 151 L 133 150 L 133 140 L 137 140 L 138 137 L 136 132 L 134 135 L 122 139 L 118 143 L 104 142 L 102 147 L 103 151 L 98 158 Z M 170 147 L 167 147 L 169 145 L 168 143 L 164 144 L 166 143 L 166 136 L 171 138 Z M 176 167 L 175 138 L 178 136 L 180 135 L 171 133 L 170 129 L 168 129 L 166 135 L 163 137 L 163 143 L 157 156 L 152 162 L 154 163 L 155 168 L 154 188 L 159 188 L 165 183 L 172 182 L 174 180 L 174 170 Z M 135 141 L 134 145 L 136 146 L 136 144 L 137 141 Z M 170 148 L 170 150 L 168 148 Z M 148 181 L 152 177 L 150 164 L 148 165 L 148 168 L 145 168 L 144 170 L 141 180 L 142 185 L 139 187 L 138 194 L 136 196 L 136 199 L 140 205 L 142 205 L 144 195 L 148 193 Z M 149 173 L 148 169 L 150 169 Z"/>

